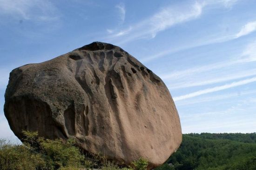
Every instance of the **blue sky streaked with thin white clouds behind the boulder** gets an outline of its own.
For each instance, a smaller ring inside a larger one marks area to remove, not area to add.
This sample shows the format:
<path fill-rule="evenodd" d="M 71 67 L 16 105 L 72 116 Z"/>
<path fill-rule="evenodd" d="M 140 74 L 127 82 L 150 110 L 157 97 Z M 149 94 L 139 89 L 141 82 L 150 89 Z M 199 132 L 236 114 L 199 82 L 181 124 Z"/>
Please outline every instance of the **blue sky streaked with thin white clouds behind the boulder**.
<path fill-rule="evenodd" d="M 162 78 L 182 132 L 256 131 L 255 0 L 0 0 L 0 137 L 9 72 L 93 41 Z"/>

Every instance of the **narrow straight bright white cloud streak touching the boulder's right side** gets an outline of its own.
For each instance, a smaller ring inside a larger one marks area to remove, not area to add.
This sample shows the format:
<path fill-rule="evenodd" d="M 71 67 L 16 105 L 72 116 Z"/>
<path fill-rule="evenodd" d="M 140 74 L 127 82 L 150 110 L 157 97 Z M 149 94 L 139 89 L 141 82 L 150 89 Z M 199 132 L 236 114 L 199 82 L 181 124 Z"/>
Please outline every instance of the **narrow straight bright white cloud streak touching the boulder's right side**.
<path fill-rule="evenodd" d="M 252 82 L 256 82 L 256 77 L 244 79 L 244 80 L 237 81 L 237 82 L 233 82 L 231 84 L 220 85 L 220 86 L 216 86 L 216 87 L 213 87 L 213 88 L 199 90 L 197 92 L 192 92 L 192 93 L 185 94 L 185 95 L 182 95 L 182 96 L 174 97 L 173 99 L 174 99 L 174 101 L 179 101 L 179 100 L 184 100 L 184 99 L 187 99 L 187 98 L 194 98 L 194 97 L 200 96 L 202 94 L 217 92 L 217 91 L 221 91 L 221 90 L 224 90 L 224 89 L 229 89 L 229 88 L 232 88 L 232 87 L 236 87 L 236 86 L 239 86 L 239 85 L 246 85 L 246 84 L 249 84 L 249 83 L 252 83 Z"/>

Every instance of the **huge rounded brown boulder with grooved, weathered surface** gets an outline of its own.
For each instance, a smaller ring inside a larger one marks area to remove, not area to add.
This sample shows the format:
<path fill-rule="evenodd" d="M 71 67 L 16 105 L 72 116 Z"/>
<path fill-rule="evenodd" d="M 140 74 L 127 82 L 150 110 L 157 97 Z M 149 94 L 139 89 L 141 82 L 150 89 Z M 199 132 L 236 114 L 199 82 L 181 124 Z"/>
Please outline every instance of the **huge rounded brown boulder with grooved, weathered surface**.
<path fill-rule="evenodd" d="M 94 42 L 10 73 L 5 116 L 14 134 L 38 131 L 119 163 L 164 163 L 182 141 L 162 80 L 118 46 Z"/>

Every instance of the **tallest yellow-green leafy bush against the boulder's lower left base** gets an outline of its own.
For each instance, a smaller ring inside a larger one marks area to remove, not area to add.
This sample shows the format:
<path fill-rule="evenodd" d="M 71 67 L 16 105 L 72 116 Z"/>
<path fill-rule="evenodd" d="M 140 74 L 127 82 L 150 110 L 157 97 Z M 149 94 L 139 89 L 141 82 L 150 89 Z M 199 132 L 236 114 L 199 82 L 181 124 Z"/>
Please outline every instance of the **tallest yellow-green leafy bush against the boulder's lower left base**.
<path fill-rule="evenodd" d="M 81 150 L 75 146 L 74 139 L 44 139 L 37 132 L 24 131 L 24 144 L 30 149 L 39 152 L 50 167 L 54 170 L 63 167 L 82 168 L 85 157 Z"/>

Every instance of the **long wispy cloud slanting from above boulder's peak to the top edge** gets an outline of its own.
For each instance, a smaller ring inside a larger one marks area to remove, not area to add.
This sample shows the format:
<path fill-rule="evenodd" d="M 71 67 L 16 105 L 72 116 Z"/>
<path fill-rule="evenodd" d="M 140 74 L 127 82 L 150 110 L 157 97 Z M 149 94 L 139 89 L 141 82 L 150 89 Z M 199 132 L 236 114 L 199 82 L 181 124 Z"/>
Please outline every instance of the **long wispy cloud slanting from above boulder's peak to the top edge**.
<path fill-rule="evenodd" d="M 126 34 L 120 34 L 124 29 L 117 31 L 111 30 L 111 34 L 106 39 L 112 40 L 113 38 L 127 35 L 125 39 L 118 41 L 119 44 L 123 44 L 135 39 L 152 39 L 155 38 L 158 33 L 167 30 L 176 24 L 199 18 L 202 15 L 205 7 L 216 5 L 222 7 L 231 7 L 235 3 L 236 0 L 196 0 L 189 1 L 188 3 L 180 3 L 176 6 L 163 7 L 151 17 L 128 26 L 132 29 L 129 29 Z"/>

